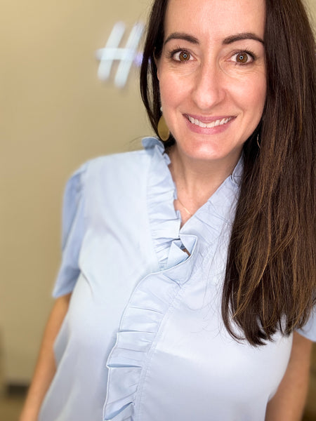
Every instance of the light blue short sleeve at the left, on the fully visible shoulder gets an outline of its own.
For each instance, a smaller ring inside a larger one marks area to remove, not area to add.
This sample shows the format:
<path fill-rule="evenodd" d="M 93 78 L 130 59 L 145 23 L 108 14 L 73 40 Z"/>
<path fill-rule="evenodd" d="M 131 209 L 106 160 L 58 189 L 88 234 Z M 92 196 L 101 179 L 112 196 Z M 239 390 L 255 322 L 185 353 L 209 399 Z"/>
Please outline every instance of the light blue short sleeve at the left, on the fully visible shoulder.
<path fill-rule="evenodd" d="M 53 297 L 71 293 L 78 279 L 79 253 L 84 236 L 84 173 L 87 164 L 68 180 L 62 206 L 62 262 Z"/>

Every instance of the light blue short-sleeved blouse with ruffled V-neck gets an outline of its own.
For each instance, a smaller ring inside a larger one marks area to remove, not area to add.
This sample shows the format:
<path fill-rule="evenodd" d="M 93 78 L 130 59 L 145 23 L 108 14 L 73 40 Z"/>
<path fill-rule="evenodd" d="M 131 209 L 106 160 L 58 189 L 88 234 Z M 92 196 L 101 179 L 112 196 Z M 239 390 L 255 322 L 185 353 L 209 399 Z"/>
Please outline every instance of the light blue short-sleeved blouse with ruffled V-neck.
<path fill-rule="evenodd" d="M 169 157 L 144 145 L 67 184 L 54 295 L 72 298 L 39 420 L 263 421 L 292 338 L 251 347 L 220 316 L 242 162 L 180 228 Z"/>

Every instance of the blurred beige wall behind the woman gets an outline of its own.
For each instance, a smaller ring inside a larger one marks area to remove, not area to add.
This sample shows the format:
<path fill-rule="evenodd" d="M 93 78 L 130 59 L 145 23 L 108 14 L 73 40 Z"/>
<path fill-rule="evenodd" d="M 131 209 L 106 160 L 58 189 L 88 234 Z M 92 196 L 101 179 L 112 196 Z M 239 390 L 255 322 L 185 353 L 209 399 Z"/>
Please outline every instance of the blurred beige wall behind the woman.
<path fill-rule="evenodd" d="M 316 22 L 316 0 L 306 3 Z M 138 92 L 135 27 L 150 4 L 1 0 L 0 387 L 8 397 L 0 399 L 1 419 L 29 384 L 51 309 L 67 178 L 87 159 L 139 148 L 152 133 Z M 117 54 L 106 44 L 134 51 L 131 69 L 115 61 L 100 80 Z M 118 72 L 127 76 L 120 86 Z M 316 414 L 316 387 L 310 393 Z"/>

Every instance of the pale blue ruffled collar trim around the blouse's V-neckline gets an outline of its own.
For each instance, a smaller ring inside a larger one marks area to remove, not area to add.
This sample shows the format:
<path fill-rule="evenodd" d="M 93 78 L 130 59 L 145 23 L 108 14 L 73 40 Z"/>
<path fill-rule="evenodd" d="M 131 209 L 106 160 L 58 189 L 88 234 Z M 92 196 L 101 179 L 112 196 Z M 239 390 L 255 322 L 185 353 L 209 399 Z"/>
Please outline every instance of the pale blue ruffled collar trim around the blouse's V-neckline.
<path fill-rule="evenodd" d="M 195 215 L 180 229 L 180 213 L 173 206 L 177 198 L 176 186 L 169 171 L 170 159 L 164 153 L 164 145 L 157 138 L 143 139 L 143 145 L 148 154 L 152 154 L 152 163 L 147 182 L 147 208 L 157 253 L 159 269 L 169 269 L 187 258 L 183 246 L 189 250 L 192 245 L 183 244 L 181 233 L 195 234 L 197 221 L 199 239 L 204 246 L 216 243 L 223 227 L 232 225 L 235 215 L 235 205 L 239 194 L 239 184 L 243 172 L 243 156 L 240 157 L 232 175 L 214 192 L 209 201 L 199 208 Z M 201 225 L 202 224 L 202 225 Z"/>

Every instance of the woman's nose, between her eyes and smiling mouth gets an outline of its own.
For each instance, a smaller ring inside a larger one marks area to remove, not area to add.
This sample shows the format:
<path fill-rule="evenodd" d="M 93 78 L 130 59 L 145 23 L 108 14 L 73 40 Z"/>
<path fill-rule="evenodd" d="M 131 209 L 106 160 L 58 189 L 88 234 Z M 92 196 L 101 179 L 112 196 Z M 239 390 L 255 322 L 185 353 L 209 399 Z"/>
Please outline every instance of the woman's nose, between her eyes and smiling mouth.
<path fill-rule="evenodd" d="M 192 100 L 202 111 L 207 111 L 225 98 L 225 75 L 220 67 L 205 62 L 195 73 Z"/>

